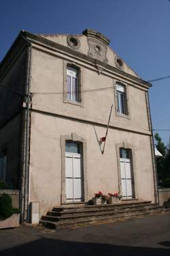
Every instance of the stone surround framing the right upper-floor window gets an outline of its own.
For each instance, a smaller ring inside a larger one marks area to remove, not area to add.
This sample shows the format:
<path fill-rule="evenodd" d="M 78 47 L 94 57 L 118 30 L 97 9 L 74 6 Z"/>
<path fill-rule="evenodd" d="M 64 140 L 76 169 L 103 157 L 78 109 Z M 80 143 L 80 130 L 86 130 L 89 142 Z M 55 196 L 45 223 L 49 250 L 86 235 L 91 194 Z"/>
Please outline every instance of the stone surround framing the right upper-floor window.
<path fill-rule="evenodd" d="M 116 91 L 116 84 L 120 84 L 122 86 L 124 86 L 124 91 L 125 91 L 125 108 L 126 108 L 126 113 L 127 115 L 125 114 L 122 114 L 122 113 L 119 113 L 117 111 L 117 91 Z M 131 119 L 131 116 L 130 116 L 130 110 L 129 110 L 129 88 L 128 88 L 128 85 L 126 85 L 124 82 L 120 81 L 120 80 L 116 80 L 114 79 L 114 101 L 115 101 L 115 115 L 116 117 L 124 117 L 126 119 Z"/>

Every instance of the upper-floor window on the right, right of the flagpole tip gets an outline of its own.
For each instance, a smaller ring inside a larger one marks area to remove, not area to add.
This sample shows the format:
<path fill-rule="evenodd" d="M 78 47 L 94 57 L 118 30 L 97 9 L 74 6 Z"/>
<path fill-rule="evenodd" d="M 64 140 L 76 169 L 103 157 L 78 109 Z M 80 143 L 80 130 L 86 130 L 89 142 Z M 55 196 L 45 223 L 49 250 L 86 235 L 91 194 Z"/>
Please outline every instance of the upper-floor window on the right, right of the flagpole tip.
<path fill-rule="evenodd" d="M 116 84 L 117 111 L 127 115 L 126 91 L 124 85 Z"/>

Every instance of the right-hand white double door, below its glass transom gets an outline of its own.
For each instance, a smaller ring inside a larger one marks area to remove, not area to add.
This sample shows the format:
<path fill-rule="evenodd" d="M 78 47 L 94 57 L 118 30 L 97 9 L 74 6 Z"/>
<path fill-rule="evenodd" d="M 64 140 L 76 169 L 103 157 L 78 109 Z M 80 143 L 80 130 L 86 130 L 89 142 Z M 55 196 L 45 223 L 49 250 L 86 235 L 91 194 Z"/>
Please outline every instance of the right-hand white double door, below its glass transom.
<path fill-rule="evenodd" d="M 133 198 L 133 178 L 131 174 L 131 160 L 120 158 L 120 175 L 122 184 L 122 198 Z"/>

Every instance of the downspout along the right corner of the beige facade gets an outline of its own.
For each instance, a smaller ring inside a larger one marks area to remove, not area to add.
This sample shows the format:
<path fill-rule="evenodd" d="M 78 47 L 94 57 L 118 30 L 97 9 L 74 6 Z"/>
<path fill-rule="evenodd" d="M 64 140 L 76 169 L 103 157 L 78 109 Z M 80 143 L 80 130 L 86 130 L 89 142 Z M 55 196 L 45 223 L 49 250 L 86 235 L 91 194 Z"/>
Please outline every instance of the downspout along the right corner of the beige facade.
<path fill-rule="evenodd" d="M 148 121 L 149 121 L 149 129 L 152 132 L 152 135 L 150 136 L 150 145 L 151 145 L 151 152 L 152 152 L 152 166 L 153 166 L 153 176 L 154 176 L 154 199 L 155 203 L 158 203 L 159 205 L 159 197 L 158 197 L 158 175 L 157 175 L 157 167 L 156 167 L 156 158 L 154 154 L 154 135 L 152 130 L 152 119 L 151 119 L 151 113 L 150 113 L 150 99 L 148 95 L 148 91 L 146 92 L 146 105 L 148 110 Z"/>

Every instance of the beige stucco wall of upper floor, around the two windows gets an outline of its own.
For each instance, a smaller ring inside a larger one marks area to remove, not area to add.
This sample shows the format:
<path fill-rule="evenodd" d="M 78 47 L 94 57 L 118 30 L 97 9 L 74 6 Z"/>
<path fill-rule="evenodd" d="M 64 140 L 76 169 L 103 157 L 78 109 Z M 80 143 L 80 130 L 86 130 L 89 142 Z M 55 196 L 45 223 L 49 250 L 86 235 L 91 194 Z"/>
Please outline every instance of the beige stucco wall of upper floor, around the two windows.
<path fill-rule="evenodd" d="M 35 109 L 106 124 L 113 103 L 114 111 L 110 121 L 112 126 L 143 132 L 148 130 L 146 91 L 134 87 L 133 83 L 127 85 L 130 119 L 116 117 L 114 89 L 82 93 L 82 106 L 63 103 L 65 63 L 67 61 L 54 55 L 33 49 L 31 91 L 38 92 L 33 96 Z M 82 90 L 115 87 L 118 81 L 104 74 L 99 75 L 97 70 L 91 70 L 90 67 L 85 68 L 81 64 L 78 66 L 81 68 Z"/>

